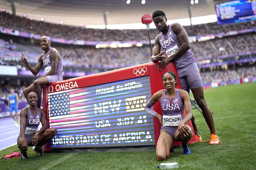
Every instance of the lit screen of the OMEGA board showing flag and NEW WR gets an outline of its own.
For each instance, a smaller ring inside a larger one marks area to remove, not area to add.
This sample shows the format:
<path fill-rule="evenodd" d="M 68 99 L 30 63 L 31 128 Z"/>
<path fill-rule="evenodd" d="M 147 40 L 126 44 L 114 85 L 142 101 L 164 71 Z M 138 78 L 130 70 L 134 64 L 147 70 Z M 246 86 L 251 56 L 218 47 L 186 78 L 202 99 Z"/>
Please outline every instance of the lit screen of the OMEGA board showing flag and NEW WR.
<path fill-rule="evenodd" d="M 58 130 L 52 149 L 155 145 L 153 117 L 144 110 L 151 97 L 148 75 L 78 84 L 56 85 L 56 92 L 48 88 L 49 125 Z"/>

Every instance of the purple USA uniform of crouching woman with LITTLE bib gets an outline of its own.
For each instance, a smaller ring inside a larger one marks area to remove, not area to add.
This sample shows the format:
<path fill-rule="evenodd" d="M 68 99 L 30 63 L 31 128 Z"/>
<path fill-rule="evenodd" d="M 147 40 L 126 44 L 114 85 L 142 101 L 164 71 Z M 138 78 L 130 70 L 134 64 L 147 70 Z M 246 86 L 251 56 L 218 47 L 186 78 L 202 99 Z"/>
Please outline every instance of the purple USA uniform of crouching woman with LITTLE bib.
<path fill-rule="evenodd" d="M 31 142 L 33 136 L 38 131 L 38 126 L 41 121 L 41 113 L 36 108 L 36 115 L 33 115 L 28 107 L 28 117 L 26 117 L 26 126 L 25 126 L 25 137 Z M 20 134 L 18 138 L 20 137 Z M 17 139 L 18 140 L 18 139 Z"/>

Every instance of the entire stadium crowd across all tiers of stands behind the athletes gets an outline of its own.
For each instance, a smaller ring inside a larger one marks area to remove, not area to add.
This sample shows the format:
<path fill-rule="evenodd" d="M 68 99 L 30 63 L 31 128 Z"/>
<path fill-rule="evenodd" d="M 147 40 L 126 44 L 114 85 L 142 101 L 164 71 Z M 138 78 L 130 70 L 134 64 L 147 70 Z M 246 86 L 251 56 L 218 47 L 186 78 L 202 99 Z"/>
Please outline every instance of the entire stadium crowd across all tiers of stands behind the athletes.
<path fill-rule="evenodd" d="M 0 12 L 0 25 L 26 33 L 46 35 L 67 40 L 84 41 L 147 41 L 147 30 L 108 30 L 108 29 L 88 29 L 84 27 L 61 26 L 46 22 L 29 20 Z M 2 28 L 2 29 L 4 29 Z M 51 29 L 48 29 L 51 28 Z M 255 28 L 255 22 L 240 23 L 234 25 L 220 26 L 217 23 L 184 26 L 189 36 L 203 36 L 207 34 L 227 33 L 228 31 L 238 31 Z M 150 30 L 151 38 L 155 37 L 159 31 Z M 4 35 L 3 35 L 4 36 Z M 3 37 L 2 36 L 2 37 Z M 65 71 L 84 71 L 86 74 L 106 71 L 106 69 L 123 68 L 141 63 L 151 62 L 151 52 L 149 46 L 130 48 L 95 48 L 94 46 L 74 46 L 52 44 L 62 57 Z M 209 60 L 208 63 L 230 62 L 226 69 L 219 66 L 211 69 L 201 69 L 201 77 L 204 84 L 212 82 L 222 82 L 236 80 L 243 77 L 256 77 L 255 62 L 251 64 L 234 64 L 232 62 L 242 59 L 256 58 L 256 34 L 255 32 L 238 34 L 235 36 L 224 36 L 208 41 L 190 43 L 191 51 L 200 63 Z M 30 63 L 36 64 L 40 53 L 39 45 L 22 44 L 9 40 L 0 40 L 0 65 L 14 65 L 18 70 L 26 70 L 20 62 L 20 52 L 27 56 Z M 88 68 L 88 69 L 84 69 Z M 26 84 L 15 86 L 15 92 L 20 96 L 20 100 L 25 100 L 22 91 Z M 10 85 L 1 83 L 0 98 L 6 99 Z"/>

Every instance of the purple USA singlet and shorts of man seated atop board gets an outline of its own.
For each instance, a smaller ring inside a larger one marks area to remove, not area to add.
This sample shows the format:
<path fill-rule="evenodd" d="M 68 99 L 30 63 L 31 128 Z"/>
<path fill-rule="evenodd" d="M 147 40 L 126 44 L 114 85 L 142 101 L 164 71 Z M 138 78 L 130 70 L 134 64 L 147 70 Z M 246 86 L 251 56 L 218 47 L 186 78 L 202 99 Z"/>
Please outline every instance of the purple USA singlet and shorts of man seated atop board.
<path fill-rule="evenodd" d="M 45 65 L 44 73 L 48 73 L 51 70 L 51 65 L 52 65 L 52 59 L 50 57 L 51 50 L 52 50 L 52 47 L 50 47 L 49 51 L 46 54 L 44 54 L 43 52 L 42 61 Z M 49 84 L 63 80 L 62 71 L 63 71 L 63 68 L 62 68 L 61 60 L 58 60 L 56 73 L 51 76 L 46 76 L 49 80 Z"/>

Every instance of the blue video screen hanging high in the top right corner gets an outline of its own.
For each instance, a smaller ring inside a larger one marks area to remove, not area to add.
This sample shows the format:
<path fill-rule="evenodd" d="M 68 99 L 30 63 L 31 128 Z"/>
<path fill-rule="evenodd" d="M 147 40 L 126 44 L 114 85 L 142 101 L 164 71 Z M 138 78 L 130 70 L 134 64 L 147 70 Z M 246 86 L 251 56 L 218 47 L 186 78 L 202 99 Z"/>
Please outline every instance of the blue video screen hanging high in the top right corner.
<path fill-rule="evenodd" d="M 218 24 L 231 24 L 256 19 L 256 0 L 228 1 L 215 4 Z"/>

